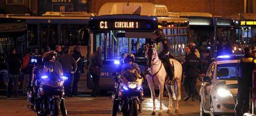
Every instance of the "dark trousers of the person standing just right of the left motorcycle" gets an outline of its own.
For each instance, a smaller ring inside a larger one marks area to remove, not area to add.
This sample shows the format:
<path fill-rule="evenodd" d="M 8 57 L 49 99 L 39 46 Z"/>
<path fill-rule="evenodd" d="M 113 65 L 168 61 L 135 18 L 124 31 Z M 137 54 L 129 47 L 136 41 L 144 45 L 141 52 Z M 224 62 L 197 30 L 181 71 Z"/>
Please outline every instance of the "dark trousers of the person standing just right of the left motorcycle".
<path fill-rule="evenodd" d="M 67 77 L 67 80 L 64 82 L 64 91 L 67 96 L 71 96 L 72 95 L 73 74 L 68 72 L 68 73 L 64 73 L 64 75 Z"/>

